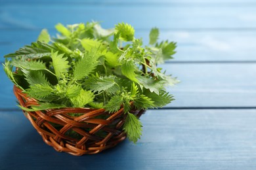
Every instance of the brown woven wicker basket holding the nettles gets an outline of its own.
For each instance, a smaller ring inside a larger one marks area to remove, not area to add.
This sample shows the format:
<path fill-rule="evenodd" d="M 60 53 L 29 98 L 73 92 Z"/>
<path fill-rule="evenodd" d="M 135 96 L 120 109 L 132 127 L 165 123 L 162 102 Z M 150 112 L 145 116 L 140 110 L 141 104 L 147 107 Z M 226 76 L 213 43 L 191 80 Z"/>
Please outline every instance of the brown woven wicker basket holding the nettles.
<path fill-rule="evenodd" d="M 22 107 L 38 105 L 36 99 L 14 86 L 14 94 Z M 126 138 L 123 131 L 126 114 L 123 108 L 108 113 L 104 109 L 64 108 L 25 111 L 24 115 L 43 137 L 43 141 L 58 152 L 75 156 L 96 154 L 112 148 Z M 139 118 L 145 110 L 133 110 Z"/>

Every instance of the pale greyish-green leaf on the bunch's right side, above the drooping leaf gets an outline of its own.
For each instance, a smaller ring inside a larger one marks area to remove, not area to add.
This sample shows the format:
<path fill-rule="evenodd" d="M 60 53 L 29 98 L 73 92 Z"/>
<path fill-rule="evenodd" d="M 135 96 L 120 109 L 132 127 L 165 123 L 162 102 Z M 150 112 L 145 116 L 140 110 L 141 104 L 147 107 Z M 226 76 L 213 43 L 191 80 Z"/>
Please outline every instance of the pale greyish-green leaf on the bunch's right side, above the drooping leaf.
<path fill-rule="evenodd" d="M 150 92 L 159 94 L 160 90 L 165 90 L 165 80 L 154 80 L 153 78 L 147 78 L 146 76 L 138 76 L 140 86 L 149 89 Z"/>

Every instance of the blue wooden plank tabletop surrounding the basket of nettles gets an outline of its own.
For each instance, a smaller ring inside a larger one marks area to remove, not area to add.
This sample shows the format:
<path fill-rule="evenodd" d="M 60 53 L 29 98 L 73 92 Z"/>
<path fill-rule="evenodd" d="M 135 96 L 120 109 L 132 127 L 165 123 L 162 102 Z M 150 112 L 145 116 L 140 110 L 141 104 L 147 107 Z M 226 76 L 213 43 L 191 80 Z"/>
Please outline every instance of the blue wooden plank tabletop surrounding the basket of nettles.
<path fill-rule="evenodd" d="M 0 69 L 0 169 L 256 169 L 254 0 L 0 0 L 0 61 L 43 28 L 91 20 L 127 22 L 144 42 L 159 27 L 177 41 L 162 65 L 181 80 L 169 89 L 176 100 L 141 117 L 137 144 L 76 157 L 43 143 Z"/>

